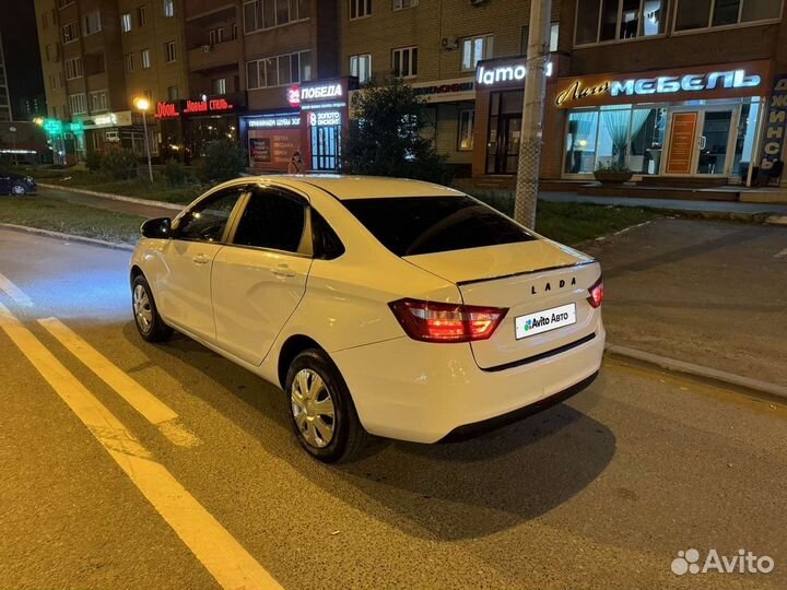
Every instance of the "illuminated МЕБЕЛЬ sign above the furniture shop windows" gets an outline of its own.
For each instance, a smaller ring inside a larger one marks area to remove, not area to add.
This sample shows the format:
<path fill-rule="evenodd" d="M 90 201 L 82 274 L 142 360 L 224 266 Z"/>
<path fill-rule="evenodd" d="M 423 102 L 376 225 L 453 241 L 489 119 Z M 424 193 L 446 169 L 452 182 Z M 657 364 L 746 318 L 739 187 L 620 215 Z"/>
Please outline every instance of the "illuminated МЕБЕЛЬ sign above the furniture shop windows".
<path fill-rule="evenodd" d="M 612 98 L 670 95 L 703 91 L 756 88 L 761 84 L 762 75 L 749 73 L 742 68 L 654 78 L 594 79 L 592 83 L 586 83 L 579 79 L 573 80 L 567 88 L 559 92 L 554 104 L 555 106 L 563 106 L 566 103 L 582 102 L 598 95 L 608 95 Z"/>

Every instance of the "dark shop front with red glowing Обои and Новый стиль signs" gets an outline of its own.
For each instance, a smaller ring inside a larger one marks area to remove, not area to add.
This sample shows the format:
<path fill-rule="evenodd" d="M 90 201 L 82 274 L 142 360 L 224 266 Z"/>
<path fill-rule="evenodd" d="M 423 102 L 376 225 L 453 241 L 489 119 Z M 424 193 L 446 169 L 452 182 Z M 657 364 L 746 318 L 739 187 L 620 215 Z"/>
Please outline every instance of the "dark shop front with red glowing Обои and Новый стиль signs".
<path fill-rule="evenodd" d="M 155 117 L 161 127 L 162 155 L 189 163 L 192 157 L 204 157 L 213 141 L 236 141 L 237 113 L 244 107 L 240 93 L 157 103 Z"/>

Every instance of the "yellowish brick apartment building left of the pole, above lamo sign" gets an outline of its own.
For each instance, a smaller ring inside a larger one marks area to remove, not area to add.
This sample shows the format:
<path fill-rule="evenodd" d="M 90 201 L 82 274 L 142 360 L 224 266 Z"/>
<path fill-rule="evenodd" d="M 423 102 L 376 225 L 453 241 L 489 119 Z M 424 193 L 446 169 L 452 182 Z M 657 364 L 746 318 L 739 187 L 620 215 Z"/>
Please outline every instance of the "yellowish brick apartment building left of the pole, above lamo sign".
<path fill-rule="evenodd" d="M 555 1 L 555 43 L 559 11 Z M 522 55 L 528 19 L 526 0 L 341 0 L 342 72 L 361 83 L 407 80 L 433 105 L 437 150 L 457 174 L 469 176 L 477 151 L 477 66 Z M 508 122 L 516 127 L 514 118 Z M 500 174 L 516 169 L 509 154 L 518 152 L 518 131 L 510 137 Z"/>

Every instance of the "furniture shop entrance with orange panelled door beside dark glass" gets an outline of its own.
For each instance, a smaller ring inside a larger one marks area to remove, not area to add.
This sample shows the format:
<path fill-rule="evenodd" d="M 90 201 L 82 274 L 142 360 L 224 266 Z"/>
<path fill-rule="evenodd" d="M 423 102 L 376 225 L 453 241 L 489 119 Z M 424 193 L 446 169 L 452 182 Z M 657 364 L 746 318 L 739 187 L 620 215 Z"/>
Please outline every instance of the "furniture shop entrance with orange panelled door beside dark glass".
<path fill-rule="evenodd" d="M 674 110 L 669 115 L 662 174 L 729 176 L 738 107 Z"/>

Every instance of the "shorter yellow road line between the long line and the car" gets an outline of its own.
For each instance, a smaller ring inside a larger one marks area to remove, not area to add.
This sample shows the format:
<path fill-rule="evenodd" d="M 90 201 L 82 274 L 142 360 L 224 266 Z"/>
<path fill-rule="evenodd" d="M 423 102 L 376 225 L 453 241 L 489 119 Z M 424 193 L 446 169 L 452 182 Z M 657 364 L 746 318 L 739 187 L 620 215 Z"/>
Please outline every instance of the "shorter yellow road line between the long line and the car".
<path fill-rule="evenodd" d="M 177 423 L 178 415 L 168 405 L 116 367 L 59 319 L 44 318 L 38 323 L 151 424 L 156 425 L 172 442 L 185 447 L 200 444 L 196 435 Z"/>

